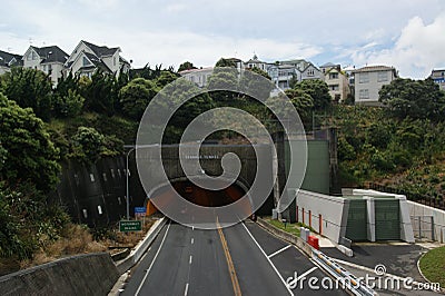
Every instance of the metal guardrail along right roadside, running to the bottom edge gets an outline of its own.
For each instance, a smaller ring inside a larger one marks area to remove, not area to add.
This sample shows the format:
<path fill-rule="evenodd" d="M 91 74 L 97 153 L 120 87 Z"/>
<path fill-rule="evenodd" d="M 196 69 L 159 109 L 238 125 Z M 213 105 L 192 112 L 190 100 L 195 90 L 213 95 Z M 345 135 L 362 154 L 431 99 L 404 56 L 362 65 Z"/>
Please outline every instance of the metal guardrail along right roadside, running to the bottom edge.
<path fill-rule="evenodd" d="M 328 256 L 323 254 L 319 250 L 313 248 L 313 259 L 318 263 L 326 272 L 328 272 L 332 276 L 335 277 L 336 280 L 344 288 L 348 288 L 354 295 L 357 296 L 374 296 L 376 293 L 366 286 L 359 278 L 355 275 L 339 266 Z"/>

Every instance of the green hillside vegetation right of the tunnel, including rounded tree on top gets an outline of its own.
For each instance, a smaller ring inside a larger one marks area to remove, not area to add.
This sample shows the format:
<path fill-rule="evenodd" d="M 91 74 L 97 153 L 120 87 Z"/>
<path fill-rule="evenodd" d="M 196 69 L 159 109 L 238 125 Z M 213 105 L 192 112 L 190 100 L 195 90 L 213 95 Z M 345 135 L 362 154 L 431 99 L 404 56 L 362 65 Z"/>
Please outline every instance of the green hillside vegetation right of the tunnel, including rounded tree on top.
<path fill-rule="evenodd" d="M 388 107 L 336 106 L 343 185 L 376 181 L 417 196 L 445 190 L 445 92 L 432 80 L 397 79 L 380 90 Z"/>

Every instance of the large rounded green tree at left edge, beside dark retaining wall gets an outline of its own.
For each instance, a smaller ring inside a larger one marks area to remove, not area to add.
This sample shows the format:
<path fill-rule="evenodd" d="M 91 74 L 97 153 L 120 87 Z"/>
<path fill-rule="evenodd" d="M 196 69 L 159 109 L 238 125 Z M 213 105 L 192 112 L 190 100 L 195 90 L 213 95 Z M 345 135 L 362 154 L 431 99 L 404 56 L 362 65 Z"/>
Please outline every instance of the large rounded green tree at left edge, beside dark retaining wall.
<path fill-rule="evenodd" d="M 30 181 L 39 190 L 53 189 L 60 170 L 59 154 L 43 121 L 30 108 L 23 109 L 0 93 L 0 122 L 3 150 L 0 180 Z"/>

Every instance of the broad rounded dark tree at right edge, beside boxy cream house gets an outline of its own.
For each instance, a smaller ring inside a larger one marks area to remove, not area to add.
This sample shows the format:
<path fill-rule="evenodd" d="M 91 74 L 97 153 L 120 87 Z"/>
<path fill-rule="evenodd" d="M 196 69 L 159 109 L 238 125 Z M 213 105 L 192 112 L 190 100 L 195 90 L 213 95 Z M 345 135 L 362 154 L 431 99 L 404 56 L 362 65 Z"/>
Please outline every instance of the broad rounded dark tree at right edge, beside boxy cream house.
<path fill-rule="evenodd" d="M 432 79 L 398 78 L 383 86 L 378 95 L 395 118 L 441 121 L 445 117 L 445 92 Z"/>

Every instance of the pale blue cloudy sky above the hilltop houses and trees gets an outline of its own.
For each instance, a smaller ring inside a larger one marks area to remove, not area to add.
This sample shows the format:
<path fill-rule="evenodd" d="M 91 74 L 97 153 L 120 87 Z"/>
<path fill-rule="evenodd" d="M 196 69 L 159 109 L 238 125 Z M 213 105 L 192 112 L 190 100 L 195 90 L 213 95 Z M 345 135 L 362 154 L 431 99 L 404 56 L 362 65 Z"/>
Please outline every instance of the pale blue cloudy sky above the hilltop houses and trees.
<path fill-rule="evenodd" d="M 0 50 L 80 40 L 120 47 L 132 67 L 220 58 L 385 65 L 423 79 L 445 68 L 444 0 L 0 0 Z"/>

